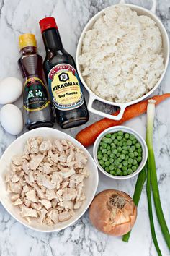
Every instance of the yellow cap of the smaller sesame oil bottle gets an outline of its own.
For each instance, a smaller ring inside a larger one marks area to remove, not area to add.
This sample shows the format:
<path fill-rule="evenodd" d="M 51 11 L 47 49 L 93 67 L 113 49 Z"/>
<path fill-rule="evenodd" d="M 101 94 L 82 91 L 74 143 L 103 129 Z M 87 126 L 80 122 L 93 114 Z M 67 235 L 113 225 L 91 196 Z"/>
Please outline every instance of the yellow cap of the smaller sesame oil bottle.
<path fill-rule="evenodd" d="M 33 34 L 19 35 L 19 48 L 22 49 L 28 46 L 37 47 L 37 41 L 36 41 L 35 35 Z"/>

